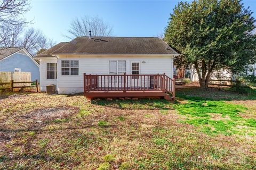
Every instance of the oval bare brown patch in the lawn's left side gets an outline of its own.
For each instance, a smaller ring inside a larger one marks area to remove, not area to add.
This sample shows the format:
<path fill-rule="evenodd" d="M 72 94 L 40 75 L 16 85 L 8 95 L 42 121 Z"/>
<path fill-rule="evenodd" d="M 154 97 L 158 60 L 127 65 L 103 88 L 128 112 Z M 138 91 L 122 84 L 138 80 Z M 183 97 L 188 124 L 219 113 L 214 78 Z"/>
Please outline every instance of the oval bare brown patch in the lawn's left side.
<path fill-rule="evenodd" d="M 66 118 L 75 113 L 79 109 L 77 107 L 59 106 L 36 109 L 26 114 L 25 118 L 31 118 L 36 121 L 49 121 L 57 118 Z"/>

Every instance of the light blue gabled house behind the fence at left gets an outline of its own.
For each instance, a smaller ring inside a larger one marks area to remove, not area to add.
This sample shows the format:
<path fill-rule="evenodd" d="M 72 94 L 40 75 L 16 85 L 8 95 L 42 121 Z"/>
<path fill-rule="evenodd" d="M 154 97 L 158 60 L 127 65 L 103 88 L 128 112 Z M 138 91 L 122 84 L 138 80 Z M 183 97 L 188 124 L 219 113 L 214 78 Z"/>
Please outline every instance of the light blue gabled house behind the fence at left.
<path fill-rule="evenodd" d="M 39 80 L 39 64 L 25 48 L 0 48 L 0 71 L 30 72 L 31 81 Z"/>

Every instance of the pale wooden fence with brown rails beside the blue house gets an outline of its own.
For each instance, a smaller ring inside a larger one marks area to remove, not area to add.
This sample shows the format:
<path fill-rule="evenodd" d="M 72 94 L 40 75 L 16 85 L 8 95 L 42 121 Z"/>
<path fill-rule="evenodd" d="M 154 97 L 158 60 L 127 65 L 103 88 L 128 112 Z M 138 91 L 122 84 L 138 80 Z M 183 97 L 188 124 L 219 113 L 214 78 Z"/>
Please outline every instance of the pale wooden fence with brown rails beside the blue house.
<path fill-rule="evenodd" d="M 35 83 L 34 86 L 31 83 Z M 39 92 L 38 80 L 31 81 L 29 72 L 0 72 L 0 91 L 19 91 L 22 88 L 34 88 Z"/>

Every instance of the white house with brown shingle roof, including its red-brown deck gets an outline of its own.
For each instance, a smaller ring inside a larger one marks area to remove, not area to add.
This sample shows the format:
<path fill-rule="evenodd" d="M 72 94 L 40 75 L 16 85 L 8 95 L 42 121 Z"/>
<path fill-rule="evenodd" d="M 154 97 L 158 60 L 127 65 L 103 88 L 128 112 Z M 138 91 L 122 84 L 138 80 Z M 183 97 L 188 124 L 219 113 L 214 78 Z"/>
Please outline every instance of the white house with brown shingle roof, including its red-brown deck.
<path fill-rule="evenodd" d="M 174 89 L 173 58 L 177 55 L 156 37 L 77 37 L 36 58 L 41 63 L 41 91 L 55 84 L 59 94 L 140 97 Z"/>

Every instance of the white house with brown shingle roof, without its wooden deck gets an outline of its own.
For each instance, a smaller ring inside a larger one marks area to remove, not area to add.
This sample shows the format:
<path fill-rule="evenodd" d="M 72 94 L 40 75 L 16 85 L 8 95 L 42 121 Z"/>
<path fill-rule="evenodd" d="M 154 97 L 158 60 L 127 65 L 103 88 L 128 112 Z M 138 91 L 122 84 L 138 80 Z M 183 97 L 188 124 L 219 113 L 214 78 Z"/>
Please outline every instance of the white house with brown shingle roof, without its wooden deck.
<path fill-rule="evenodd" d="M 84 85 L 88 83 L 87 80 L 84 81 L 84 73 L 86 75 L 165 73 L 173 78 L 173 57 L 177 55 L 179 54 L 163 40 L 156 37 L 77 37 L 69 43 L 55 45 L 37 55 L 36 58 L 41 63 L 40 88 L 42 91 L 46 90 L 47 84 L 55 84 L 59 94 L 73 94 L 84 91 Z M 124 80 L 121 77 L 117 79 L 113 77 L 112 81 L 116 86 Z M 95 86 L 103 87 L 103 80 L 100 80 L 103 78 L 101 76 L 95 79 L 97 81 Z M 133 81 L 134 85 L 130 81 Z M 140 87 L 136 87 L 137 90 L 139 88 L 142 90 L 143 83 L 146 81 L 148 81 L 147 77 L 143 78 L 143 75 L 130 75 L 125 86 L 126 88 L 134 87 L 136 82 L 140 84 Z M 108 84 L 110 80 L 106 79 L 104 82 Z M 86 88 L 89 90 L 89 87 Z"/>

